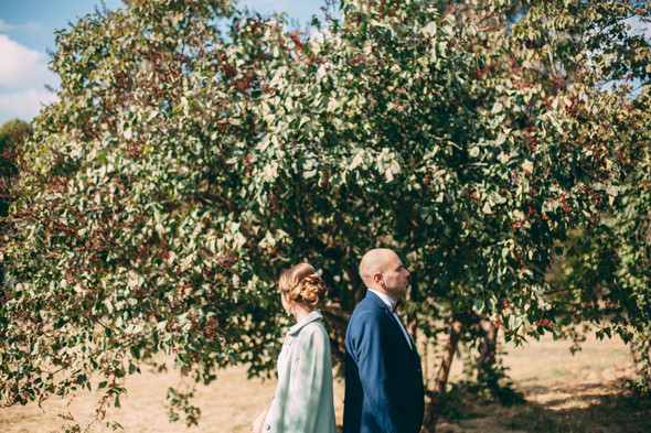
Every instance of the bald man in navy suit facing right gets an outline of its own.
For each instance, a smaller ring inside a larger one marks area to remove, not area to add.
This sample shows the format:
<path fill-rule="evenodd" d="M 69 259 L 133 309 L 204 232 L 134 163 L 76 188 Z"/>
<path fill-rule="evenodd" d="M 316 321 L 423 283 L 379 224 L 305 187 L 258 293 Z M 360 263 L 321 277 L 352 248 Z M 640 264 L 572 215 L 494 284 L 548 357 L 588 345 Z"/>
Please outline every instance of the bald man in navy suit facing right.
<path fill-rule="evenodd" d="M 344 433 L 418 433 L 424 388 L 420 357 L 395 314 L 409 272 L 389 249 L 362 258 L 369 291 L 345 333 Z"/>

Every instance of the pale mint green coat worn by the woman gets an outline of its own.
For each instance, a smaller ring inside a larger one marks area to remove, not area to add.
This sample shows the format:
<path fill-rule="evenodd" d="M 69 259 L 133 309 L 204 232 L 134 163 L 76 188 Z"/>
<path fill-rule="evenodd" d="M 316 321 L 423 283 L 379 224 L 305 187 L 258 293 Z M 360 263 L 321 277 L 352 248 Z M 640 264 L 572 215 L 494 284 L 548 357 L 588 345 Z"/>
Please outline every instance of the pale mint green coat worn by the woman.
<path fill-rule="evenodd" d="M 330 339 L 311 312 L 287 333 L 278 356 L 278 387 L 263 425 L 269 433 L 337 433 Z"/>

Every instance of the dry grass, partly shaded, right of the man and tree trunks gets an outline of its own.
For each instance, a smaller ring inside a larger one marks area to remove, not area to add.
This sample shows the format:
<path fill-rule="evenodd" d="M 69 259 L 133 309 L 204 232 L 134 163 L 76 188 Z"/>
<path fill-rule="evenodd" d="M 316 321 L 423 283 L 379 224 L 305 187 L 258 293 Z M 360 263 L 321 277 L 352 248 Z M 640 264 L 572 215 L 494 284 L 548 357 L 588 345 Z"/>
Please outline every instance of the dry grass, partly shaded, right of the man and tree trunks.
<path fill-rule="evenodd" d="M 623 392 L 633 377 L 629 347 L 619 338 L 588 338 L 575 355 L 569 347 L 543 337 L 509 348 L 504 364 L 526 404 L 465 400 L 461 416 L 444 420 L 437 432 L 651 432 L 651 407 Z"/>

